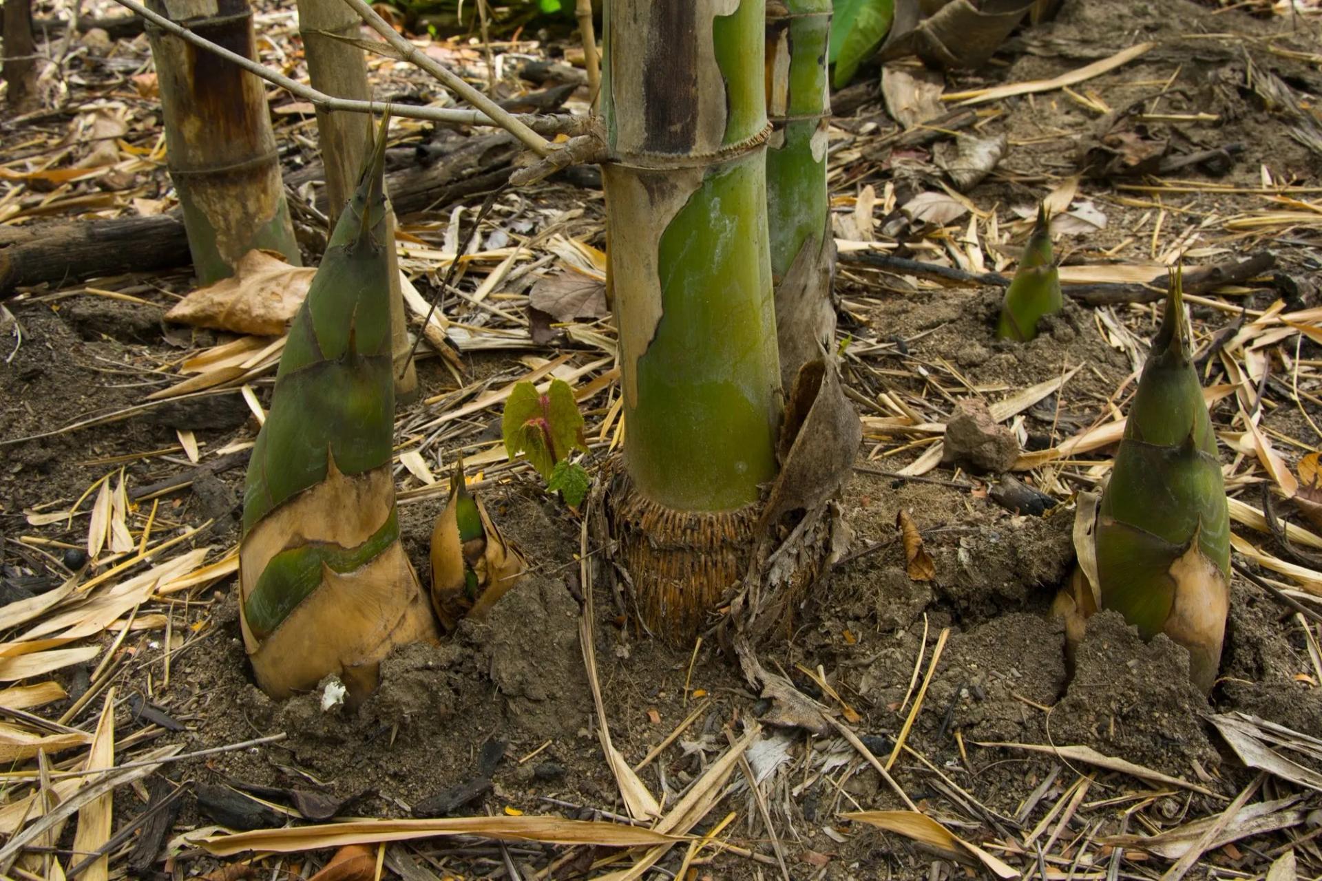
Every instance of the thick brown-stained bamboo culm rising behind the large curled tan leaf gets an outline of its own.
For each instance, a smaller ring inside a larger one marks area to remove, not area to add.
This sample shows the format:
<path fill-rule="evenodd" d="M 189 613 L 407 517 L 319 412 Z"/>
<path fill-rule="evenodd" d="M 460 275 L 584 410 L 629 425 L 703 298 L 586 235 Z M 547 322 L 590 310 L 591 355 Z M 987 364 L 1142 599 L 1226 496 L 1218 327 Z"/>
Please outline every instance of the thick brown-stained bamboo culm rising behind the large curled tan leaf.
<path fill-rule="evenodd" d="M 153 11 L 249 58 L 253 11 L 242 0 L 153 0 Z M 169 172 L 202 284 L 233 273 L 253 248 L 299 264 L 262 82 L 223 58 L 148 26 L 160 82 Z"/>

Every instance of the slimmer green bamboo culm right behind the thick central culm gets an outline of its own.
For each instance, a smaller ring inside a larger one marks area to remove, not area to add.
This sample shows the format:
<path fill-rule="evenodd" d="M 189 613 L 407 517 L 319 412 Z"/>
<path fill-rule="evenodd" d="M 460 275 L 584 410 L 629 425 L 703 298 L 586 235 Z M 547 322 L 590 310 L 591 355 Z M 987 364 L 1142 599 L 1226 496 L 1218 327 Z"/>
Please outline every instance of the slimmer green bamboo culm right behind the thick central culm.
<path fill-rule="evenodd" d="M 767 219 L 785 388 L 830 349 L 836 333 L 836 240 L 826 194 L 830 0 L 767 3 Z"/>

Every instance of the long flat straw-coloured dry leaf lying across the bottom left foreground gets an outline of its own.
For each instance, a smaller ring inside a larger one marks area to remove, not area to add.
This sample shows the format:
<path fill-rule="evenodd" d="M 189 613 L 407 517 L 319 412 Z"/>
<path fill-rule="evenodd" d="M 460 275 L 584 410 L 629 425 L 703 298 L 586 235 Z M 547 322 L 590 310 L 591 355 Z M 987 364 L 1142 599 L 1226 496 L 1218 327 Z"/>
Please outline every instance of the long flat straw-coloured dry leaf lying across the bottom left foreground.
<path fill-rule="evenodd" d="M 325 826 L 255 829 L 238 835 L 213 835 L 198 841 L 215 856 L 245 851 L 295 853 L 346 844 L 412 841 L 416 839 L 479 835 L 501 841 L 590 844 L 594 847 L 653 847 L 681 840 L 639 826 L 596 820 L 566 820 L 559 816 L 453 816 L 430 820 L 356 820 Z"/>

